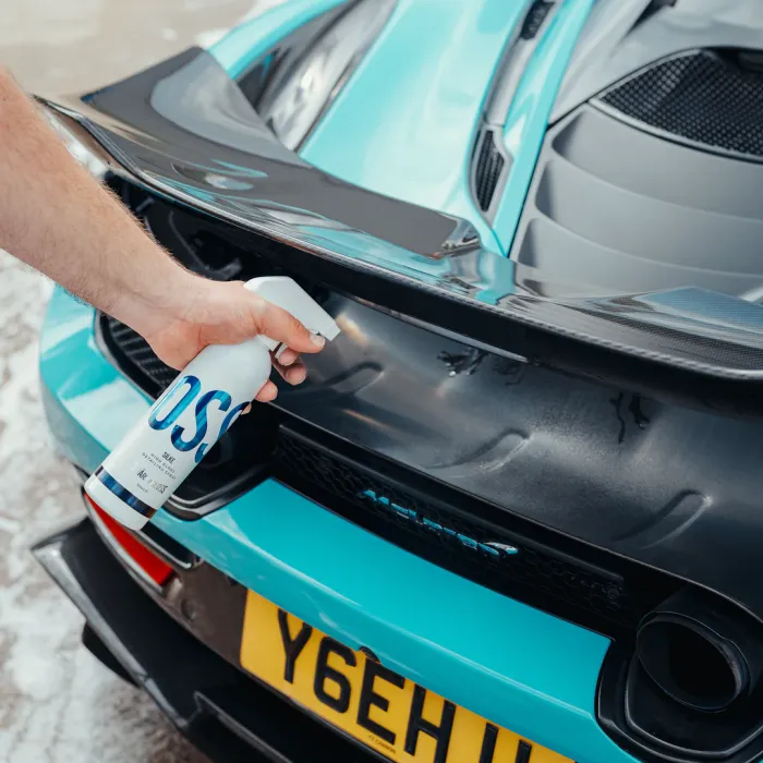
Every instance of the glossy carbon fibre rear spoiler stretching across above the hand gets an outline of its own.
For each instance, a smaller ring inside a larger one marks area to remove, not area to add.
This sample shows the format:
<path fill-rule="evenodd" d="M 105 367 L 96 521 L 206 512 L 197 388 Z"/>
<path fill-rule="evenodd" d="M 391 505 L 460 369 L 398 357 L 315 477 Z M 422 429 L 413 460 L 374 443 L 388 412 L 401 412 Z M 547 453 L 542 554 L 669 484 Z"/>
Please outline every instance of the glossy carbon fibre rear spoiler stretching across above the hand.
<path fill-rule="evenodd" d="M 558 284 L 544 289 L 537 271 L 535 288 L 520 282 L 516 264 L 482 247 L 467 221 L 303 162 L 198 48 L 45 104 L 111 171 L 278 242 L 284 258 L 402 318 L 656 396 L 760 407 L 763 306 L 695 288 L 544 296 Z"/>

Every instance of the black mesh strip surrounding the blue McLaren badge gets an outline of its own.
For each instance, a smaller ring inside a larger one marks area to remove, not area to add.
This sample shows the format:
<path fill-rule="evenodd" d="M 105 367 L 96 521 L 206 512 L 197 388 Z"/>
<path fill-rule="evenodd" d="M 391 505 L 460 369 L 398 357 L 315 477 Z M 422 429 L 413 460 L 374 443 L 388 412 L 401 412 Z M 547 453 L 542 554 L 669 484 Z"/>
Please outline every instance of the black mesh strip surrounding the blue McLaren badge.
<path fill-rule="evenodd" d="M 641 617 L 681 586 L 670 576 L 528 522 L 299 422 L 281 425 L 269 470 L 289 488 L 411 554 L 613 639 L 630 638 Z M 375 500 L 361 496 L 368 488 Z M 417 521 L 396 520 L 393 511 L 378 509 L 379 500 L 415 509 Z M 461 542 L 422 529 L 431 520 L 481 542 L 514 546 L 519 554 L 504 566 L 479 552 L 459 554 Z"/>

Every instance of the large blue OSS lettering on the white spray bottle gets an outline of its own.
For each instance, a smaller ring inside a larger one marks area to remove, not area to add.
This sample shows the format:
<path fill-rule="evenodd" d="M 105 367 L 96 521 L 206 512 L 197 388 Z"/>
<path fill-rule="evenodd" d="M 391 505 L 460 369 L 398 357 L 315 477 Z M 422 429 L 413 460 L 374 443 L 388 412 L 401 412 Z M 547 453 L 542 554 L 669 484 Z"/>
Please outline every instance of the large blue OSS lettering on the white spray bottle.
<path fill-rule="evenodd" d="M 183 388 L 185 389 L 178 399 L 178 395 Z M 174 404 L 167 410 L 173 401 Z M 185 431 L 185 426 L 181 426 L 175 422 L 194 401 L 196 403 L 195 432 L 189 433 Z M 204 458 L 207 450 L 228 432 L 239 413 L 247 405 L 247 402 L 242 402 L 231 409 L 232 402 L 231 396 L 221 389 L 213 389 L 208 392 L 203 392 L 202 383 L 198 378 L 187 374 L 179 378 L 154 407 L 148 416 L 148 426 L 157 432 L 172 427 L 172 433 L 170 435 L 172 445 L 181 452 L 189 452 L 195 449 L 194 459 L 196 463 L 198 463 Z M 207 419 L 207 409 L 210 405 L 217 407 L 217 409 L 222 412 L 228 411 L 228 415 L 222 420 L 217 437 L 213 439 L 207 438 L 209 423 Z"/>

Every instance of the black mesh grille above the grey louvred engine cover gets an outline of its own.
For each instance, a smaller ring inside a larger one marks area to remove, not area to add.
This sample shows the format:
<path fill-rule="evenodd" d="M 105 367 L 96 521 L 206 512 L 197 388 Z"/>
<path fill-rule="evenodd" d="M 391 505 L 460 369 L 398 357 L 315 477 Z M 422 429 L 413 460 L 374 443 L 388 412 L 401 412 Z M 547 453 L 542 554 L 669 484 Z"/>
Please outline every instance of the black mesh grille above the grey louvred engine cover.
<path fill-rule="evenodd" d="M 763 74 L 742 65 L 744 60 L 711 51 L 673 58 L 616 86 L 602 101 L 693 144 L 763 158 Z"/>

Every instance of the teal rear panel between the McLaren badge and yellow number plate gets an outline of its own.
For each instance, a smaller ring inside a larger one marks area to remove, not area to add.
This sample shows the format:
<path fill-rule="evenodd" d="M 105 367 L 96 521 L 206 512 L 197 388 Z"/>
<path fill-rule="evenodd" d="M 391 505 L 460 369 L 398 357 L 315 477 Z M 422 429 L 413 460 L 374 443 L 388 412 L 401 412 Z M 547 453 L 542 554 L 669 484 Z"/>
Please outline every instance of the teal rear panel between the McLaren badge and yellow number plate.
<path fill-rule="evenodd" d="M 204 521 L 179 529 L 164 513 L 157 524 L 296 617 L 496 724 L 589 763 L 630 760 L 594 716 L 608 647 L 601 635 L 424 561 L 274 481 Z"/>

